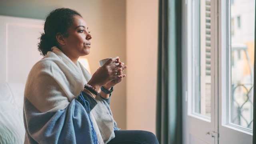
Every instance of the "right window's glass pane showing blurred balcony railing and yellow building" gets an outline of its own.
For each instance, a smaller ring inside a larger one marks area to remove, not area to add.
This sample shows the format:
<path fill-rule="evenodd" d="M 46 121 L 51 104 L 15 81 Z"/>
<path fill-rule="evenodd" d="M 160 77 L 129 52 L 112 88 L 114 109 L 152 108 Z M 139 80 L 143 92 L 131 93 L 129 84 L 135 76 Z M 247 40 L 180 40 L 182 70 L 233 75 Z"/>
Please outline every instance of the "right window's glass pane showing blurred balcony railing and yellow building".
<path fill-rule="evenodd" d="M 230 15 L 230 123 L 252 129 L 255 0 L 232 1 Z"/>

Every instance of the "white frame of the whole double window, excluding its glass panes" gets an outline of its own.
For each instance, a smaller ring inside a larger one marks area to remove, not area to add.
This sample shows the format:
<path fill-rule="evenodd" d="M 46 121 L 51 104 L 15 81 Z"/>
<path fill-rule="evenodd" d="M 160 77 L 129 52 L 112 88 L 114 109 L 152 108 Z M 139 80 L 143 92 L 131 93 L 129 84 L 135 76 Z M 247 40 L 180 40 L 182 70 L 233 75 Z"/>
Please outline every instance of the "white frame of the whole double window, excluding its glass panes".
<path fill-rule="evenodd" d="M 207 118 L 202 117 L 200 114 L 194 114 L 192 110 L 192 94 L 193 92 L 193 78 L 192 78 L 192 26 L 190 24 L 192 23 L 192 0 L 188 0 L 187 4 L 187 39 L 185 39 L 184 42 L 187 42 L 185 44 L 184 52 L 186 52 L 184 56 L 184 60 L 186 60 L 186 66 L 184 66 L 184 83 L 187 80 L 187 83 L 183 85 L 184 87 L 184 98 L 186 104 L 184 104 L 184 144 L 185 143 L 191 143 L 191 136 L 198 136 L 197 138 L 200 140 L 203 140 L 204 142 L 208 143 L 214 143 L 214 144 L 241 144 L 241 143 L 251 143 L 252 142 L 252 132 L 251 130 L 246 130 L 242 127 L 242 129 L 238 126 L 234 126 L 232 124 L 229 124 L 228 117 L 228 97 L 224 97 L 225 95 L 230 94 L 231 88 L 228 84 L 228 79 L 230 79 L 231 75 L 227 74 L 228 71 L 228 64 L 227 60 L 230 60 L 230 55 L 228 54 L 228 47 L 231 46 L 229 44 L 229 40 L 227 37 L 230 33 L 230 29 L 228 29 L 228 22 L 230 24 L 230 18 L 228 18 L 228 12 L 227 10 L 227 2 L 230 2 L 230 0 L 212 0 L 211 6 L 212 12 L 211 12 L 211 27 L 213 27 L 213 31 L 211 32 L 211 38 L 213 40 L 212 42 L 212 87 L 211 87 L 211 93 L 212 93 L 212 103 L 214 105 L 211 105 L 214 112 L 211 114 L 211 120 L 208 120 Z M 212 5 L 213 4 L 213 5 Z M 229 33 L 228 33 L 228 32 Z M 231 36 L 231 35 L 230 35 Z M 225 62 L 224 62 L 225 61 Z M 230 61 L 229 61 L 230 62 Z M 230 78 L 229 78 L 230 77 Z M 186 91 L 187 90 L 187 91 Z M 202 120 L 202 121 L 200 121 Z M 198 123 L 199 122 L 199 123 Z M 208 132 L 208 128 L 206 128 L 207 124 L 213 124 L 214 128 L 212 128 L 212 131 L 210 134 L 214 136 L 215 140 L 214 142 L 211 142 L 211 140 L 206 136 L 205 132 Z M 195 125 L 193 125 L 195 124 Z M 203 127 L 203 130 L 197 130 L 197 127 Z M 192 143 L 191 143 L 192 144 Z"/>

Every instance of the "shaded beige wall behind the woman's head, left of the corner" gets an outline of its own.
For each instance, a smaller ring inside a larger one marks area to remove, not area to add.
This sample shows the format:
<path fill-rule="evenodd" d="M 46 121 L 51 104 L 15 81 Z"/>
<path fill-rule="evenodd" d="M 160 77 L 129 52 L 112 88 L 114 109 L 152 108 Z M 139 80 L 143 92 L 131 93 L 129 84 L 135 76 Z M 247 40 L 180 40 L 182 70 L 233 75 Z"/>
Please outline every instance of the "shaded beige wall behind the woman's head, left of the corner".
<path fill-rule="evenodd" d="M 90 28 L 92 48 L 87 57 L 92 73 L 103 58 L 120 56 L 126 62 L 125 0 L 0 0 L 0 15 L 44 19 L 60 7 L 80 12 Z M 111 109 L 118 127 L 126 129 L 126 80 L 115 86 Z"/>

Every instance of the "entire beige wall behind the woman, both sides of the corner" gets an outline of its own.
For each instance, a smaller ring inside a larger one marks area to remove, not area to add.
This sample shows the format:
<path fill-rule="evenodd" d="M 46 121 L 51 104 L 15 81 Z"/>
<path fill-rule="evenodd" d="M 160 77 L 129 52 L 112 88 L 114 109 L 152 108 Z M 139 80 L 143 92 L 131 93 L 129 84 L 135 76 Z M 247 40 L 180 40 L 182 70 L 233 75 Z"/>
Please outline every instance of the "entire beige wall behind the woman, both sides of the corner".
<path fill-rule="evenodd" d="M 59 7 L 75 9 L 86 20 L 92 73 L 106 57 L 120 56 L 128 65 L 111 99 L 118 127 L 155 133 L 158 0 L 0 0 L 0 15 L 44 19 Z"/>

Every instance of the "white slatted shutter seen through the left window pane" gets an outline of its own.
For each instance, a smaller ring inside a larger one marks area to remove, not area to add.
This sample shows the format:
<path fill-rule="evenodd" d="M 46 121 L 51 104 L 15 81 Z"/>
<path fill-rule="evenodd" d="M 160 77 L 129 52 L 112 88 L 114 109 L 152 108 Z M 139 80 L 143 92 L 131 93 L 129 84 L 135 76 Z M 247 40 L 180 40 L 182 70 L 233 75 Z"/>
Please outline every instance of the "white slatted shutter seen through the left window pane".
<path fill-rule="evenodd" d="M 211 110 L 211 5 L 200 0 L 200 109 L 210 116 Z"/>

